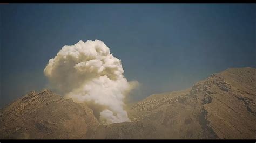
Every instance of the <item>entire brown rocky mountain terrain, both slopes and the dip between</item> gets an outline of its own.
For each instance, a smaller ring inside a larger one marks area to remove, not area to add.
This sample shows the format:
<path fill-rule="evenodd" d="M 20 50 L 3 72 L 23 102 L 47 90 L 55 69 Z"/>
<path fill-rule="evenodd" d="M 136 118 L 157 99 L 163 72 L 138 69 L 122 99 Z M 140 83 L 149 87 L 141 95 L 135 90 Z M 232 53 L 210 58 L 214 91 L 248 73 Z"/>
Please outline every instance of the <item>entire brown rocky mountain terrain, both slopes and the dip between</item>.
<path fill-rule="evenodd" d="M 0 111 L 1 139 L 255 139 L 255 68 L 229 68 L 130 107 L 131 122 L 100 125 L 83 103 L 34 91 Z"/>

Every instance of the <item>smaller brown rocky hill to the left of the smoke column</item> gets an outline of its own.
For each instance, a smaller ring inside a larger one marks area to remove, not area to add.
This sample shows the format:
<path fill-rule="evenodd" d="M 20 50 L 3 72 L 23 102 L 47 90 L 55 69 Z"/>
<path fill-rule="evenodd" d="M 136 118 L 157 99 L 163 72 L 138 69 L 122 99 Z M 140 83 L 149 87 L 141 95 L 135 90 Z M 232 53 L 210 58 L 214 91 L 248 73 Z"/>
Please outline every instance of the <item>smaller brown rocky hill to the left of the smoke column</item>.
<path fill-rule="evenodd" d="M 0 111 L 0 139 L 85 139 L 99 123 L 84 104 L 35 91 Z"/>

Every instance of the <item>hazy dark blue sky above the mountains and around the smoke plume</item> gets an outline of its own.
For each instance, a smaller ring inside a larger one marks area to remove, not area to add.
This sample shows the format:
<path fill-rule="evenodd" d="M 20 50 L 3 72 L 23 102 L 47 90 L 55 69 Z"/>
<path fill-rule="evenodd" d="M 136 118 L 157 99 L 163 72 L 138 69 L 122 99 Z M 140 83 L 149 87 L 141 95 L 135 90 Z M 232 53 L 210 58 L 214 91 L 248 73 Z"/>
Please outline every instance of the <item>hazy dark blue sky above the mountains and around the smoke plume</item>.
<path fill-rule="evenodd" d="M 255 4 L 2 4 L 1 103 L 47 83 L 64 45 L 102 40 L 142 86 L 130 97 L 191 87 L 230 67 L 256 67 Z"/>

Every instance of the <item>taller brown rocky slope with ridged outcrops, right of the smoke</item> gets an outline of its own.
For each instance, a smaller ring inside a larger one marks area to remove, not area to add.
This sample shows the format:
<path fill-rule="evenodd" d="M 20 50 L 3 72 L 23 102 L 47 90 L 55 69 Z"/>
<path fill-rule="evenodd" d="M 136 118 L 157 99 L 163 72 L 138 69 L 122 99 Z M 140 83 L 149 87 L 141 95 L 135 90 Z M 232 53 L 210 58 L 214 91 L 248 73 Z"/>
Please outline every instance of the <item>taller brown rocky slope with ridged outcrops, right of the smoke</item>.
<path fill-rule="evenodd" d="M 255 139 L 256 69 L 230 68 L 181 91 L 154 94 L 131 123 L 100 126 L 92 138 Z"/>

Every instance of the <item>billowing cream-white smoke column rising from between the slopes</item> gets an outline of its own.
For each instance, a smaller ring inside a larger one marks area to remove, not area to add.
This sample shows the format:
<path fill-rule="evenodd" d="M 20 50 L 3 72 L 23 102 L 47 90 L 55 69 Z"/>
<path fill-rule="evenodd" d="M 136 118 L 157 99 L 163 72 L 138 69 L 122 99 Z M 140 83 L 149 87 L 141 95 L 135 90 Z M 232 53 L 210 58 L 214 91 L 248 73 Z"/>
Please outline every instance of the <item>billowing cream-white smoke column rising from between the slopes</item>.
<path fill-rule="evenodd" d="M 138 82 L 128 82 L 123 73 L 121 61 L 99 40 L 64 46 L 44 69 L 52 88 L 89 103 L 102 124 L 130 121 L 123 101 Z"/>

